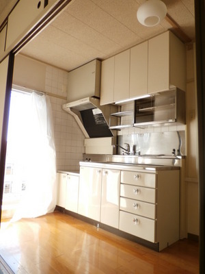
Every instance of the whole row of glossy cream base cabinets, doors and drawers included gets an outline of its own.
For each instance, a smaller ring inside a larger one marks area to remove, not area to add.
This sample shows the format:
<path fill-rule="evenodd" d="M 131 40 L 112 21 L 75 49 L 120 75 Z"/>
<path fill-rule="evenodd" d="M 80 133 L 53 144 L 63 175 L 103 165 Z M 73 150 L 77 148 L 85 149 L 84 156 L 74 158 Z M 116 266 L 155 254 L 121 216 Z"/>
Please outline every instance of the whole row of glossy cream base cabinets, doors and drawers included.
<path fill-rule="evenodd" d="M 109 166 L 82 162 L 80 177 L 68 174 L 66 201 L 62 195 L 59 205 L 65 203 L 67 210 L 112 227 L 117 234 L 136 236 L 158 251 L 179 240 L 180 169 Z M 64 193 L 65 178 L 60 178 L 59 193 Z"/>

